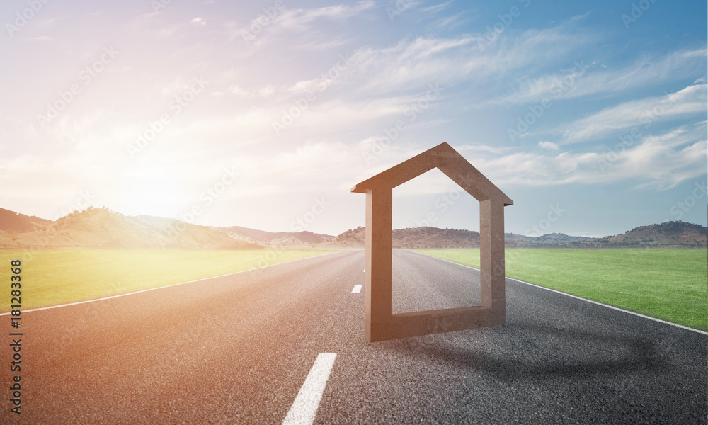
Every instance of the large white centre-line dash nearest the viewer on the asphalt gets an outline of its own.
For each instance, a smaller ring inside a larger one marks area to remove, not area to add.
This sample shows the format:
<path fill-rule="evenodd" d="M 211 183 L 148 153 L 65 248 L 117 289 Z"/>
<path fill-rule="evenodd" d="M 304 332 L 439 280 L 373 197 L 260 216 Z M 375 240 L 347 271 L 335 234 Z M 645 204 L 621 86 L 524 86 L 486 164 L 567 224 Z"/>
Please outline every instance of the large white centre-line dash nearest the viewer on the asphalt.
<path fill-rule="evenodd" d="M 305 382 L 300 387 L 295 401 L 287 411 L 283 425 L 311 425 L 317 414 L 322 393 L 327 386 L 337 353 L 321 353 L 317 356 Z"/>

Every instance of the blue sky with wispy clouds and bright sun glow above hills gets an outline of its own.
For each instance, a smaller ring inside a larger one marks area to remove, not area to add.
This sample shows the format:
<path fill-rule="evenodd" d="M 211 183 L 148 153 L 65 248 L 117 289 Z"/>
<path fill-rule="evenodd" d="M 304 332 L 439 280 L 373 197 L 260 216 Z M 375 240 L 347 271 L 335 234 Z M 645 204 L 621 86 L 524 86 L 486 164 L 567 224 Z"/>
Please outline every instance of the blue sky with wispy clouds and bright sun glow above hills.
<path fill-rule="evenodd" d="M 0 206 L 338 234 L 364 224 L 355 183 L 448 142 L 515 201 L 508 232 L 707 225 L 706 16 L 662 0 L 4 1 Z M 394 197 L 394 227 L 479 229 L 437 170 Z"/>

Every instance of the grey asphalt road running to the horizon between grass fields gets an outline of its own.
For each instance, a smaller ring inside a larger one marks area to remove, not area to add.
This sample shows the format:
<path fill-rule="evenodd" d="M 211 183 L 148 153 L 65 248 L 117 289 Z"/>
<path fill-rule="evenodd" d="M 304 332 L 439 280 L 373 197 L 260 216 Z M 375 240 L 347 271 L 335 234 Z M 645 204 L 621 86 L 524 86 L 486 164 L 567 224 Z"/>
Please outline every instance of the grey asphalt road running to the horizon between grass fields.
<path fill-rule="evenodd" d="M 320 353 L 315 424 L 707 422 L 705 334 L 507 280 L 502 327 L 370 344 L 363 268 L 352 251 L 24 312 L 22 414 L 5 336 L 1 423 L 280 424 Z M 396 251 L 394 312 L 474 305 L 478 279 Z"/>

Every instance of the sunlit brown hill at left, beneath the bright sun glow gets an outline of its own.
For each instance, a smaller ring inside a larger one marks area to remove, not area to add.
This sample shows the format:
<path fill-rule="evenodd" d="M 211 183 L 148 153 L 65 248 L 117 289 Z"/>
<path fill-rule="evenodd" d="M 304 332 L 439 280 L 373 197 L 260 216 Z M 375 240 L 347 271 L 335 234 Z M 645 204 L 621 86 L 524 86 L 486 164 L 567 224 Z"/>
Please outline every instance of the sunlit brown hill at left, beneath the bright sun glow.
<path fill-rule="evenodd" d="M 104 208 L 75 211 L 30 232 L 0 234 L 0 246 L 91 248 L 258 249 L 206 226 L 140 215 L 129 217 Z"/>

